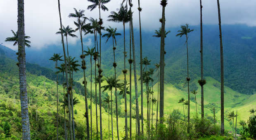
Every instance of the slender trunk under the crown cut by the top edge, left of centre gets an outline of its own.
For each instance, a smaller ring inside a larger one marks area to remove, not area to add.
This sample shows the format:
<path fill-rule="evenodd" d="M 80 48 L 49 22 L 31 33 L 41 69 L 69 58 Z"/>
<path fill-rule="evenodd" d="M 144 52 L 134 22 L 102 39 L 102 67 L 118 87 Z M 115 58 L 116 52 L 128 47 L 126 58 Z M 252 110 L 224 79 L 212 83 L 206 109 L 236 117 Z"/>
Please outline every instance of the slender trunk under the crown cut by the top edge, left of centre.
<path fill-rule="evenodd" d="M 100 14 L 100 2 L 99 2 L 99 14 Z M 100 17 L 101 21 L 101 17 Z M 101 70 L 101 24 L 100 24 L 100 70 Z M 99 70 L 99 96 L 100 96 L 100 140 L 102 140 L 102 110 L 101 110 L 101 72 Z M 117 113 L 116 113 L 116 118 Z M 119 133 L 118 133 L 118 119 L 116 119 L 116 127 L 117 127 L 117 135 L 119 140 Z"/>

